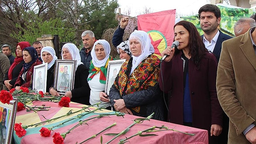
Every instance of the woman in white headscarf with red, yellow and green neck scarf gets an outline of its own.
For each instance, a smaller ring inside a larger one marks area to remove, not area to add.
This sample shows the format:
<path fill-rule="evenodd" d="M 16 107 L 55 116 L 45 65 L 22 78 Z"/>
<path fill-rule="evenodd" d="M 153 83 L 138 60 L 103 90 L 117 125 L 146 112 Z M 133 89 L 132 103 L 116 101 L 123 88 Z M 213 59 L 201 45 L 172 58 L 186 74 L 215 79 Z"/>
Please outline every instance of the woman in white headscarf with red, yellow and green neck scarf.
<path fill-rule="evenodd" d="M 88 83 L 91 88 L 90 104 L 102 102 L 99 106 L 104 106 L 105 109 L 111 109 L 108 95 L 103 92 L 106 86 L 106 75 L 108 62 L 113 60 L 110 54 L 109 42 L 105 39 L 99 39 L 93 45 L 91 50 L 91 63 L 89 70 Z"/>

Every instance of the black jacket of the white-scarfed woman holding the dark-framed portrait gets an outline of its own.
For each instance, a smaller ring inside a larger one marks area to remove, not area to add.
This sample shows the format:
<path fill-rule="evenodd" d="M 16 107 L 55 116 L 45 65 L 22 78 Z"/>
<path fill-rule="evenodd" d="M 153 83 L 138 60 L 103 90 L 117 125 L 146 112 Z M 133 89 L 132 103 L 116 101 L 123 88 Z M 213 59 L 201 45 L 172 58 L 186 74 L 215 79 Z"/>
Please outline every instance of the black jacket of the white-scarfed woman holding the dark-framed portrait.
<path fill-rule="evenodd" d="M 75 72 L 74 89 L 71 90 L 72 102 L 90 105 L 89 98 L 91 89 L 87 82 L 88 75 L 89 70 L 83 64 L 80 64 Z"/>

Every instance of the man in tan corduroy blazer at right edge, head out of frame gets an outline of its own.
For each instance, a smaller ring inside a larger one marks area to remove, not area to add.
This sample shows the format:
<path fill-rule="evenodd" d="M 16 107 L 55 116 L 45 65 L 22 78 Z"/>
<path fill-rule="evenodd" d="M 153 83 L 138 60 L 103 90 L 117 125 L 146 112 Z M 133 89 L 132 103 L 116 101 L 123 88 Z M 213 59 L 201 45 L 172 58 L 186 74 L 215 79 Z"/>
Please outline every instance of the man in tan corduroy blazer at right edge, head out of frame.
<path fill-rule="evenodd" d="M 256 30 L 222 43 L 217 94 L 229 122 L 229 144 L 256 144 Z"/>

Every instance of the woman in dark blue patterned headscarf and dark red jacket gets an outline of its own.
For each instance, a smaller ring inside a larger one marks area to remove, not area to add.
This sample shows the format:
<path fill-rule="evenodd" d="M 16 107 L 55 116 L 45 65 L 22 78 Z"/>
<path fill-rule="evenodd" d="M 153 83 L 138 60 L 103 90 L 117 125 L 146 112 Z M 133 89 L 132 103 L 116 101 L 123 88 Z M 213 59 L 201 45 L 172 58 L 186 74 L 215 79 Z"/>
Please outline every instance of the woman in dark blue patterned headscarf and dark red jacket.
<path fill-rule="evenodd" d="M 31 77 L 33 76 L 34 66 L 42 64 L 42 62 L 38 60 L 37 50 L 32 46 L 24 48 L 22 55 L 25 63 L 15 82 L 15 90 L 20 90 L 20 87 L 29 88 L 32 82 Z"/>

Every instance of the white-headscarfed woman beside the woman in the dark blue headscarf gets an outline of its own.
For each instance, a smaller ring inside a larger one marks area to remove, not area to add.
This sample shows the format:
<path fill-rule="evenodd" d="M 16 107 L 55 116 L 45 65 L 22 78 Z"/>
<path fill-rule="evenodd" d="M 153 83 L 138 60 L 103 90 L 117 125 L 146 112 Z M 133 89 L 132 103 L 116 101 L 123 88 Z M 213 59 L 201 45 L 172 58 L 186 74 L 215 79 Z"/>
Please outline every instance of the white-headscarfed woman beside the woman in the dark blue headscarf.
<path fill-rule="evenodd" d="M 47 80 L 46 80 L 46 92 L 49 92 L 50 87 L 53 86 L 54 82 L 54 67 L 57 60 L 55 50 L 51 46 L 45 46 L 41 50 L 41 57 L 44 63 L 47 65 Z"/>

